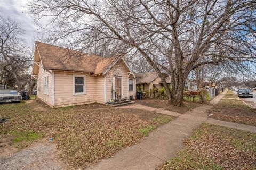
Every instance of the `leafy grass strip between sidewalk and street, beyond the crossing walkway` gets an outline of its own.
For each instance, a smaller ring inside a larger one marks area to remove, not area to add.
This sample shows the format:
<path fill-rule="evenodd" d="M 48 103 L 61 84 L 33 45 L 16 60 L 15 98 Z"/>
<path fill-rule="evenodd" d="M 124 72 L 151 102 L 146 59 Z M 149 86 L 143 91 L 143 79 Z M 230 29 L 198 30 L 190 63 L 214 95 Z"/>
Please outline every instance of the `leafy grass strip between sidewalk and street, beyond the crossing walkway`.
<path fill-rule="evenodd" d="M 243 103 L 232 91 L 226 92 L 219 103 L 209 111 L 209 116 L 219 120 L 256 126 L 256 110 Z"/>

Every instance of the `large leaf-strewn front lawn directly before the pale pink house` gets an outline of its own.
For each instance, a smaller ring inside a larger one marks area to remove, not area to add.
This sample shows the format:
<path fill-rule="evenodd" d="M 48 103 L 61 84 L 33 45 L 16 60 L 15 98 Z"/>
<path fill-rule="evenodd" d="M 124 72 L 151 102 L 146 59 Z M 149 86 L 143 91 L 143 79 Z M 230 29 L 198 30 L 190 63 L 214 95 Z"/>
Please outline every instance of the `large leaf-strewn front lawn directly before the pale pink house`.
<path fill-rule="evenodd" d="M 12 135 L 20 149 L 53 138 L 69 166 L 84 168 L 139 142 L 174 117 L 101 104 L 50 108 L 39 99 L 0 105 L 0 137 Z"/>

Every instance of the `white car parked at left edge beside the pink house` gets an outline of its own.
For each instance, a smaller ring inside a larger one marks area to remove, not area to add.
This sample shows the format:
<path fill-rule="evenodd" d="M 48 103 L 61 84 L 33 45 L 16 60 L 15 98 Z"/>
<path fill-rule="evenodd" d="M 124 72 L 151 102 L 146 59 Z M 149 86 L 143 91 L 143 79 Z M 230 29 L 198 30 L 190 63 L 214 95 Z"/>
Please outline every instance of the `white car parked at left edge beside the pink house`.
<path fill-rule="evenodd" d="M 16 90 L 0 90 L 0 103 L 20 102 L 22 97 Z"/>

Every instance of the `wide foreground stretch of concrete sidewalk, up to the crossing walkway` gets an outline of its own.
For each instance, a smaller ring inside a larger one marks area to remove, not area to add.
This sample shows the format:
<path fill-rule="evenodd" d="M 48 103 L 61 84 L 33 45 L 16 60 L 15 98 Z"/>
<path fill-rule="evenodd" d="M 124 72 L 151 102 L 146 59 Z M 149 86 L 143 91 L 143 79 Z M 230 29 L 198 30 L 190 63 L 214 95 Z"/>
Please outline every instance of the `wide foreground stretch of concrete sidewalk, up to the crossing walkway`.
<path fill-rule="evenodd" d="M 203 108 L 202 108 L 203 109 Z M 207 107 L 204 108 L 205 111 Z M 114 157 L 104 159 L 87 169 L 155 169 L 166 160 L 175 156 L 183 146 L 183 139 L 193 133 L 207 117 L 188 114 L 180 115 L 151 132 L 139 144 L 118 152 Z"/>

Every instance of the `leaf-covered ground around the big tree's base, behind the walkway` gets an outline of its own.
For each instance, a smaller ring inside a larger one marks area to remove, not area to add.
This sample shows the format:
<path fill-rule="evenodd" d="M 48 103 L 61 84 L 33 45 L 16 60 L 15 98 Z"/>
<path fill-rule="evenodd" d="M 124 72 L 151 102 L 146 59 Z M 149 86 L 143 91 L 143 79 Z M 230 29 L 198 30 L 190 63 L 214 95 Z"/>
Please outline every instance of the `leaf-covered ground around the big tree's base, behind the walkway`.
<path fill-rule="evenodd" d="M 193 103 L 193 102 L 184 102 L 184 107 L 177 107 L 173 106 L 168 103 L 168 100 L 163 99 L 151 99 L 151 98 L 145 98 L 142 100 L 136 100 L 136 103 L 146 105 L 149 107 L 154 108 L 164 108 L 169 111 L 178 112 L 178 113 L 185 113 L 187 111 L 192 111 L 194 108 L 201 106 L 200 103 Z"/>

